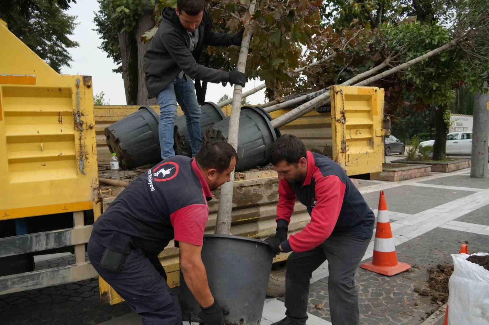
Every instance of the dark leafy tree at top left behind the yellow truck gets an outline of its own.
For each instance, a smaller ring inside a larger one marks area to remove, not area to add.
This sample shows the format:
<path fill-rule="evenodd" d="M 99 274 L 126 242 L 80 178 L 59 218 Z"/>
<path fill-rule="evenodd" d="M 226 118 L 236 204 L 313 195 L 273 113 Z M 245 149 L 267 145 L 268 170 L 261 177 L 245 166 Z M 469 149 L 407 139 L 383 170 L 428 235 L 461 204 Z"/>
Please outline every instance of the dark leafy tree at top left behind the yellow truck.
<path fill-rule="evenodd" d="M 0 18 L 8 29 L 56 72 L 73 61 L 67 48 L 78 47 L 70 40 L 76 16 L 64 13 L 75 0 L 0 0 Z"/>

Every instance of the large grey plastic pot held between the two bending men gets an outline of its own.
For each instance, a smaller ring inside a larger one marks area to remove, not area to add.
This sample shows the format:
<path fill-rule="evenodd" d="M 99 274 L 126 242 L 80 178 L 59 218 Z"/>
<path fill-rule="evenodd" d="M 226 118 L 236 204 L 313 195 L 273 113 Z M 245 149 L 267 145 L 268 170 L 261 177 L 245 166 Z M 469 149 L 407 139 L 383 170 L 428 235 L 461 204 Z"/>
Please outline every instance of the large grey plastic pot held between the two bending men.
<path fill-rule="evenodd" d="M 273 252 L 257 239 L 204 235 L 202 262 L 214 298 L 229 307 L 226 325 L 260 325 L 267 295 Z M 201 310 L 180 271 L 182 319 L 201 322 Z"/>

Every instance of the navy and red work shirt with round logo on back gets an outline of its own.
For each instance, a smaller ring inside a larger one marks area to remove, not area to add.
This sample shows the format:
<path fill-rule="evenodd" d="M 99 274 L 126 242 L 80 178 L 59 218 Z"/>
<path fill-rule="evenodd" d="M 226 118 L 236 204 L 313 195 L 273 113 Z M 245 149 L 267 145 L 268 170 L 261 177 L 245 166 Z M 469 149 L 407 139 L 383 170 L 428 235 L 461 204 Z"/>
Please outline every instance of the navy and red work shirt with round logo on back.
<path fill-rule="evenodd" d="M 159 254 L 175 239 L 202 245 L 211 191 L 195 160 L 175 156 L 137 177 L 93 224 L 93 239 L 128 254 Z"/>

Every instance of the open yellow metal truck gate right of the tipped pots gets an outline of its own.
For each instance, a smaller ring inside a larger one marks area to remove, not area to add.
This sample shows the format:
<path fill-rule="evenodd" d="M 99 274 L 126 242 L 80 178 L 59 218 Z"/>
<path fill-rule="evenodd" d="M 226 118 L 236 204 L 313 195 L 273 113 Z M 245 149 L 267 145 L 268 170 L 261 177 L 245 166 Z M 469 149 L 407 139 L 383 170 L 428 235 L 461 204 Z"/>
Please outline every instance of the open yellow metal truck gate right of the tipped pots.
<path fill-rule="evenodd" d="M 348 175 L 382 171 L 384 90 L 331 86 L 333 159 Z"/>

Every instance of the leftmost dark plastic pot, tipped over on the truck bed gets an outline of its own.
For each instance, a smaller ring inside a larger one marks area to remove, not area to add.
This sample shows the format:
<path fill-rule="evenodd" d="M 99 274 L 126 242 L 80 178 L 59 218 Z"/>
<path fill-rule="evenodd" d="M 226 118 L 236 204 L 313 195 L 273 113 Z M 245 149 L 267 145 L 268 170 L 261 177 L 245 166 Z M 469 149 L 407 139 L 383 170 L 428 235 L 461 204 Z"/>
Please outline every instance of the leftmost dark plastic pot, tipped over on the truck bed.
<path fill-rule="evenodd" d="M 130 169 L 161 161 L 158 137 L 159 117 L 149 106 L 105 128 L 105 138 L 119 165 Z"/>

